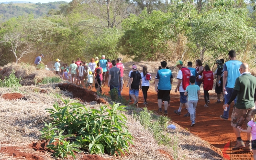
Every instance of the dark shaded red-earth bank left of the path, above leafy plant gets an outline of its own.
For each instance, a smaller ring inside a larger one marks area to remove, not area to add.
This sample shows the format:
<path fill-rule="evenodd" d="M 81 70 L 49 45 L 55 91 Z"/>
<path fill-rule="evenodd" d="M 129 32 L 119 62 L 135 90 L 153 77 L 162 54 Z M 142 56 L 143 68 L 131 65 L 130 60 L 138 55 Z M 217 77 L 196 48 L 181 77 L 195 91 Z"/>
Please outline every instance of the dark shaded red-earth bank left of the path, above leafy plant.
<path fill-rule="evenodd" d="M 96 101 L 98 104 L 107 104 L 104 99 L 99 98 L 96 92 L 85 89 L 81 86 L 67 83 L 56 84 L 56 86 L 58 86 L 61 90 L 67 90 L 68 92 L 71 92 L 74 98 L 79 98 L 79 100 L 82 100 L 84 102 Z"/>

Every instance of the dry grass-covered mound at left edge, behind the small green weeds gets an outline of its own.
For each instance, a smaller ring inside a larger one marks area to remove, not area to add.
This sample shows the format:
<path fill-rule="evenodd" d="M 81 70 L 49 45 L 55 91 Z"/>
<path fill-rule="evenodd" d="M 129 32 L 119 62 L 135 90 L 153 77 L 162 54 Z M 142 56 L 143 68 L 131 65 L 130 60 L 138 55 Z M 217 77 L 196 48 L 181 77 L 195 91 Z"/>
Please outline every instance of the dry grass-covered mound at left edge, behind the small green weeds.
<path fill-rule="evenodd" d="M 21 85 L 35 85 L 41 82 L 44 77 L 55 76 L 53 72 L 45 69 L 36 70 L 36 67 L 30 64 L 11 63 L 1 67 L 0 78 L 3 80 L 5 76 L 8 77 L 12 73 L 12 70 L 15 71 L 16 77 L 21 77 Z"/>

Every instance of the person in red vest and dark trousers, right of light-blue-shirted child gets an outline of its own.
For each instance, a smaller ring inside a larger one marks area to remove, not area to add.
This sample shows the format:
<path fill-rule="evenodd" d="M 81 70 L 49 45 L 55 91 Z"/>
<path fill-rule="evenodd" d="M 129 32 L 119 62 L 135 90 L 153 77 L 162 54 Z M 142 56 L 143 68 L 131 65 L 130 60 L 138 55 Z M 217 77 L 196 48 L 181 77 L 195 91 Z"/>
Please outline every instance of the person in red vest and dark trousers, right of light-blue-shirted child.
<path fill-rule="evenodd" d="M 210 103 L 208 91 L 213 87 L 213 73 L 207 64 L 204 66 L 204 71 L 200 79 L 203 79 L 204 107 L 208 107 L 208 104 Z"/>

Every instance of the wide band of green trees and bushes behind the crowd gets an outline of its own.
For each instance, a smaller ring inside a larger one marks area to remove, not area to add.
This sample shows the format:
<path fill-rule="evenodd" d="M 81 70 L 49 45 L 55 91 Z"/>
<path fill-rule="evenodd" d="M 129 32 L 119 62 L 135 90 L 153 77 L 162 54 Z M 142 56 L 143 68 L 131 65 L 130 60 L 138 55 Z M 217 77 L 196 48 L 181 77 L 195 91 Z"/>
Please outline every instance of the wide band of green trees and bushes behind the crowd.
<path fill-rule="evenodd" d="M 43 62 L 59 58 L 68 64 L 102 54 L 134 61 L 199 58 L 213 64 L 232 49 L 240 60 L 256 62 L 254 0 L 73 0 L 49 7 L 48 16 L 1 23 L 0 65 L 33 63 L 40 53 Z"/>

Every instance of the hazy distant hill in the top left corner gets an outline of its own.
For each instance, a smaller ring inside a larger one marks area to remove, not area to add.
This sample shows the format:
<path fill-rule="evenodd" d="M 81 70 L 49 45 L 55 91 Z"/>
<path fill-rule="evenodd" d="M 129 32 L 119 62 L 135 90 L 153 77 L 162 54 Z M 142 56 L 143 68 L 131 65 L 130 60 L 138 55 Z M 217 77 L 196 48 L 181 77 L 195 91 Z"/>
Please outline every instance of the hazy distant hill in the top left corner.
<path fill-rule="evenodd" d="M 61 4 L 68 4 L 66 1 L 48 3 L 16 2 L 0 3 L 0 21 L 7 21 L 12 17 L 28 15 L 30 13 L 34 14 L 34 18 L 39 18 L 47 15 L 51 9 L 58 9 Z"/>

